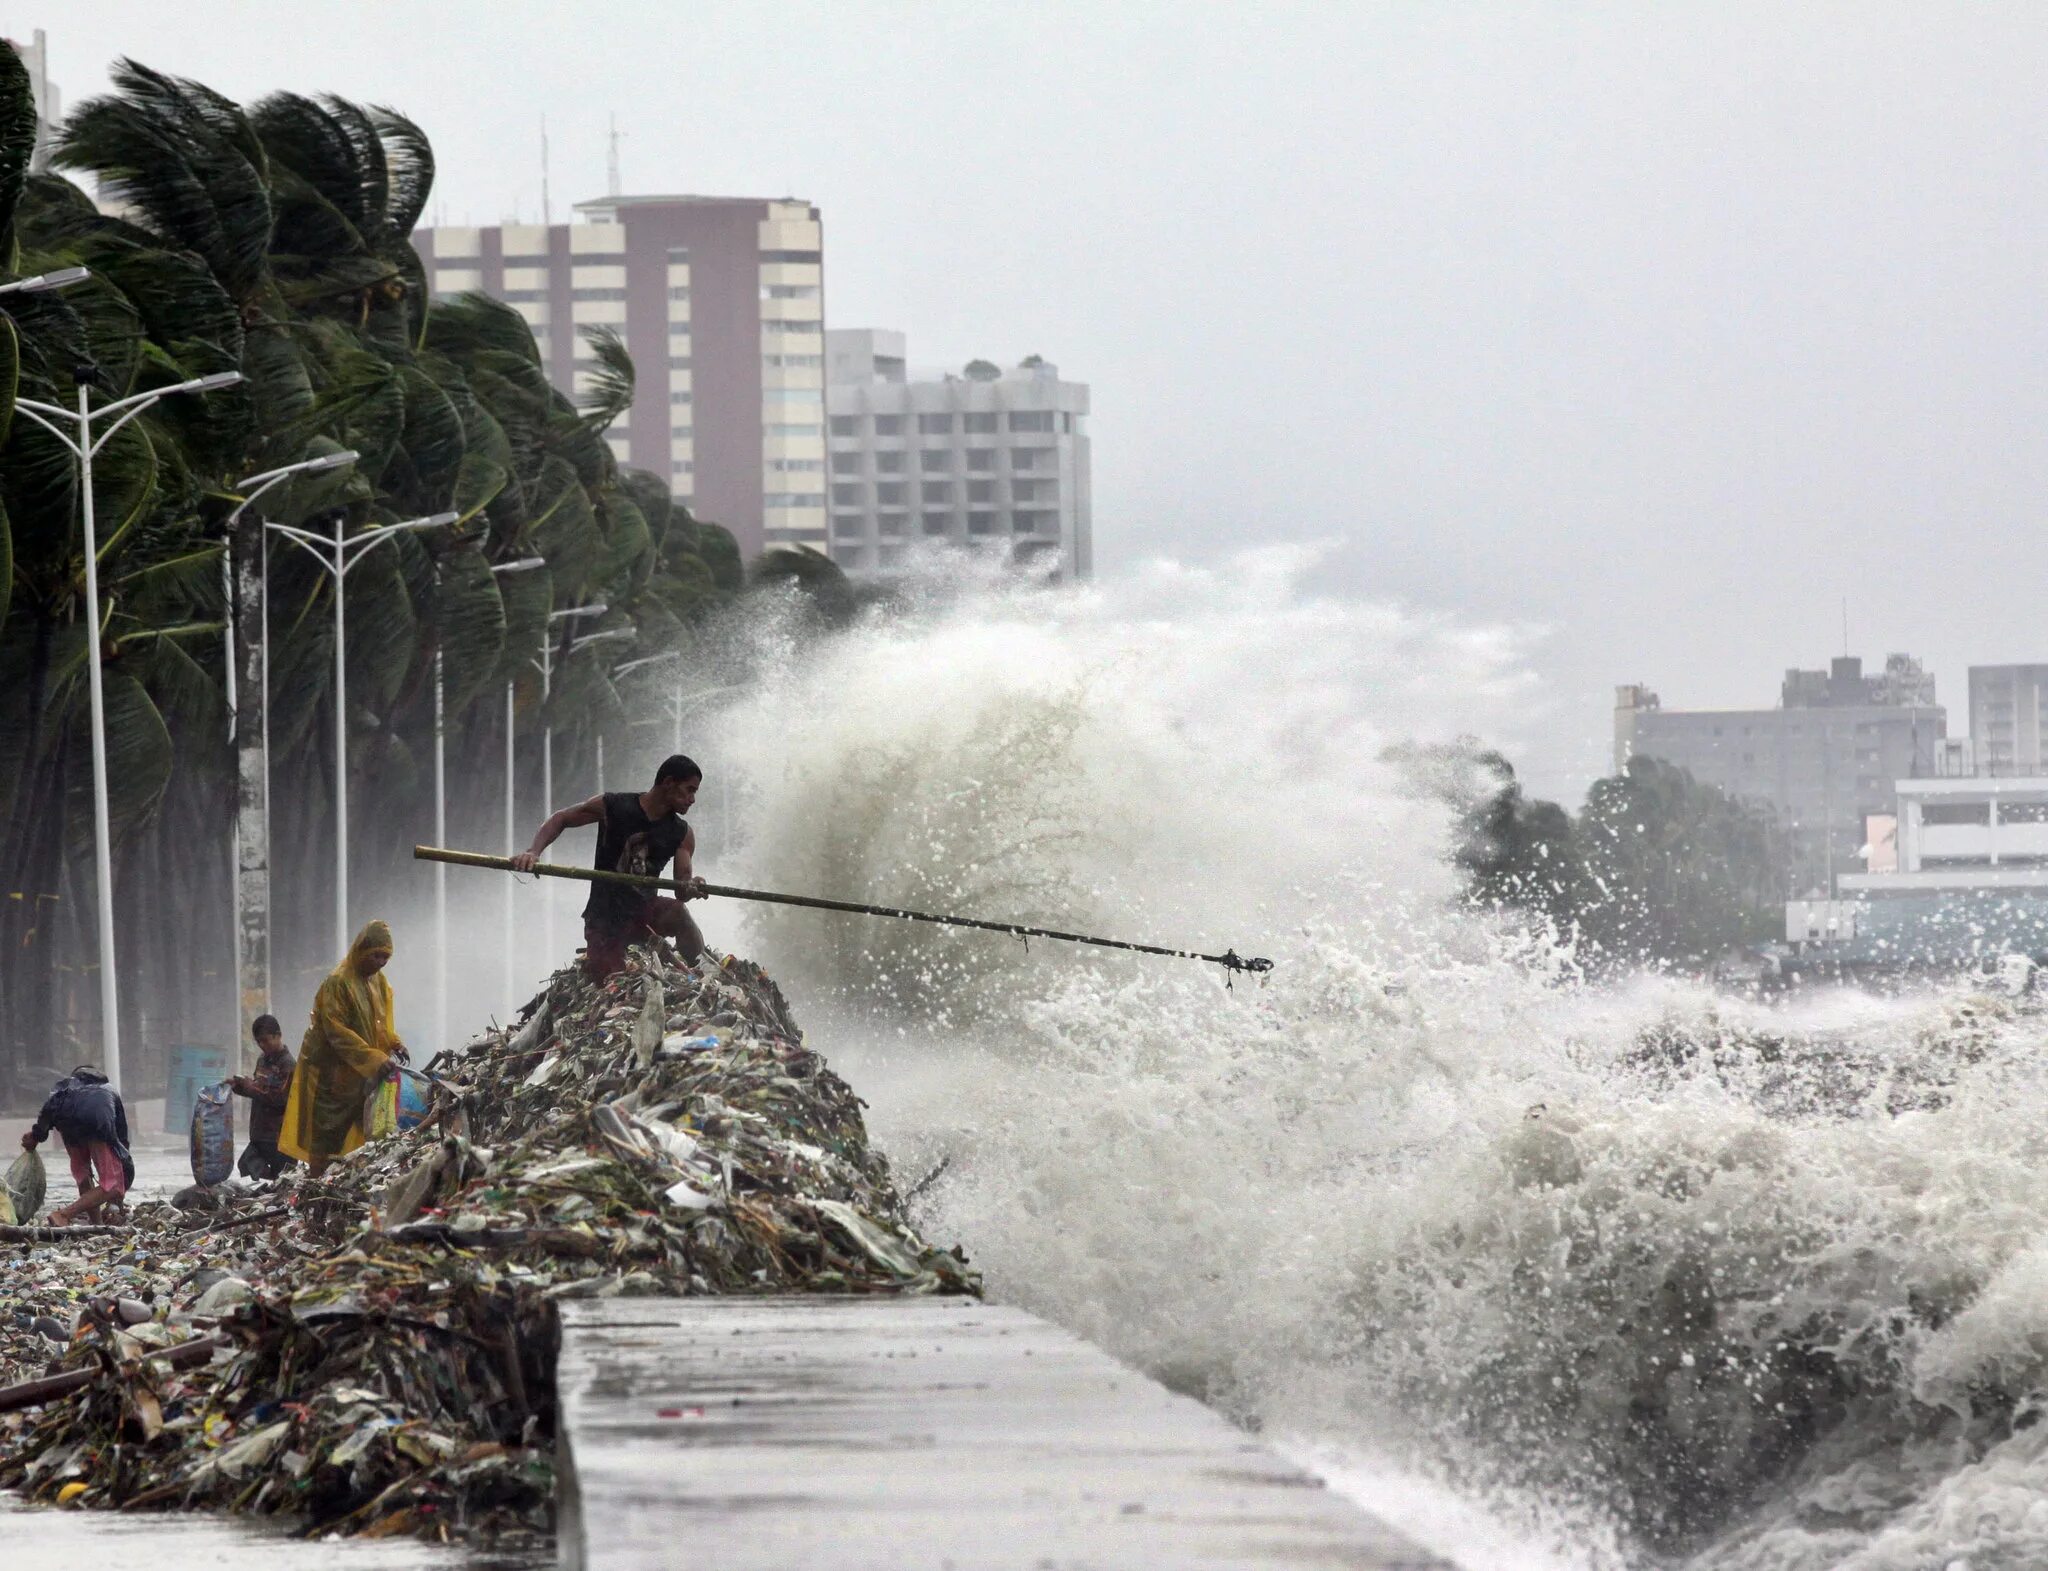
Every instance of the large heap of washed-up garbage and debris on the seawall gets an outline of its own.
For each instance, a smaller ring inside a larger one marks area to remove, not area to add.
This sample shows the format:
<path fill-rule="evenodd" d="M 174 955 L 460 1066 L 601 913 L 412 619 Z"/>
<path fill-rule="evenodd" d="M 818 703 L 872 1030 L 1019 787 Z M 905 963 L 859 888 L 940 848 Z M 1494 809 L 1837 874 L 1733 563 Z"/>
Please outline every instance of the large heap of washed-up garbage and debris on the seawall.
<path fill-rule="evenodd" d="M 428 1073 L 319 1182 L 4 1245 L 0 1381 L 84 1381 L 0 1411 L 0 1487 L 506 1542 L 551 1530 L 557 1299 L 979 1292 L 745 961 L 557 973 Z"/>

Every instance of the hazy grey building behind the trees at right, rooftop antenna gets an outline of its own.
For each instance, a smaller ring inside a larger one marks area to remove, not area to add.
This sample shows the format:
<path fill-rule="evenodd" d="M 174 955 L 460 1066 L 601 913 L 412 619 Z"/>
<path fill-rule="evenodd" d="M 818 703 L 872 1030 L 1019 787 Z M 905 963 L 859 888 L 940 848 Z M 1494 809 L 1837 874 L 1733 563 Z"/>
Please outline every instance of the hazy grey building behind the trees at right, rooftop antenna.
<path fill-rule="evenodd" d="M 1935 772 L 1946 735 L 1933 678 L 1909 655 L 1876 676 L 1847 655 L 1786 672 L 1778 709 L 1665 709 L 1645 686 L 1616 688 L 1614 705 L 1616 770 L 1645 754 L 1763 803 L 1817 864 L 1849 864 L 1864 819 L 1892 811 L 1894 782 Z"/>

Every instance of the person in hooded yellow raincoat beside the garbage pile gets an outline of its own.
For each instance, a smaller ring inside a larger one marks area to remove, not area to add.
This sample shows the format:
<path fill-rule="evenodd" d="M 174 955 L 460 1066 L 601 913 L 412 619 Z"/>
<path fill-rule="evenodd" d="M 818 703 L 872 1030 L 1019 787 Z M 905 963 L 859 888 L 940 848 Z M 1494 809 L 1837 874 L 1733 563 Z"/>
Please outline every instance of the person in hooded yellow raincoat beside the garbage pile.
<path fill-rule="evenodd" d="M 391 928 L 367 922 L 356 942 L 313 995 L 313 1018 L 299 1043 L 299 1067 L 285 1100 L 276 1149 L 319 1178 L 334 1157 L 362 1145 L 362 1098 L 406 1045 L 391 1020 Z"/>

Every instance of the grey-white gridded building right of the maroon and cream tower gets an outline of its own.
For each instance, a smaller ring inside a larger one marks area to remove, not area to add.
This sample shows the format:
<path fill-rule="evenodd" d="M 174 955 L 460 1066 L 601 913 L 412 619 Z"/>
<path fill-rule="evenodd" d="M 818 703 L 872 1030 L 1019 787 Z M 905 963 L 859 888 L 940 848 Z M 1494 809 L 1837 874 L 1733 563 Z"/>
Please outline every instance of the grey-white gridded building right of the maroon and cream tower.
<path fill-rule="evenodd" d="M 1032 356 L 911 377 L 903 334 L 825 334 L 831 555 L 889 574 L 918 541 L 1094 571 L 1087 387 Z"/>

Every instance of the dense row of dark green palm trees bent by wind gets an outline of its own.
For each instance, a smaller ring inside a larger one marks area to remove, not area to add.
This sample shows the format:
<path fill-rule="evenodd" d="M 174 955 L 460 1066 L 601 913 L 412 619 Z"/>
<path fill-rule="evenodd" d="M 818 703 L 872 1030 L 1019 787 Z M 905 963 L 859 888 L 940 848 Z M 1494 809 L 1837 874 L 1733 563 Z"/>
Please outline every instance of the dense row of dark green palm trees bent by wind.
<path fill-rule="evenodd" d="M 354 465 L 260 502 L 264 518 L 319 539 L 461 514 L 377 547 L 348 576 L 348 768 L 367 805 L 352 827 L 371 864 L 406 866 L 430 801 L 436 664 L 451 782 L 481 803 L 502 782 L 489 750 L 504 748 L 506 686 L 520 727 L 537 713 L 530 660 L 553 604 L 604 600 L 608 625 L 635 631 L 602 645 L 608 666 L 635 645 L 682 647 L 743 578 L 731 535 L 674 506 L 662 479 L 614 463 L 602 432 L 633 401 L 616 334 L 594 340 L 602 371 L 580 410 L 549 385 L 508 305 L 428 297 L 412 229 L 434 156 L 418 125 L 295 92 L 244 111 L 135 61 L 113 84 L 72 113 L 55 162 L 125 217 L 66 178 L 27 174 L 27 74 L 0 51 L 0 270 L 92 274 L 61 293 L 0 297 L 0 889 L 35 895 L 0 903 L 0 997 L 29 1000 L 0 1022 L 16 1047 L 59 1008 L 18 969 L 47 975 L 51 957 L 29 946 L 35 911 L 61 905 L 74 854 L 90 844 L 90 657 L 106 676 L 121 866 L 176 873 L 186 903 L 225 911 L 236 760 L 223 535 L 244 475 L 356 451 Z M 78 471 L 18 416 L 16 393 L 76 408 L 80 377 L 104 404 L 229 369 L 240 389 L 164 399 L 100 451 L 100 627 L 88 631 Z M 545 569 L 492 571 L 535 555 Z M 336 606 L 330 578 L 283 537 L 268 543 L 264 608 L 272 883 L 291 887 L 332 856 Z M 561 676 L 588 698 L 586 733 L 621 717 L 596 655 Z M 567 752 L 557 746 L 565 772 Z M 150 885 L 143 903 L 160 893 Z M 88 975 L 86 928 L 72 924 L 66 942 L 80 948 L 61 965 Z M 285 948 L 281 973 L 293 967 Z M 324 950 L 322 936 L 303 963 L 332 963 Z"/>

